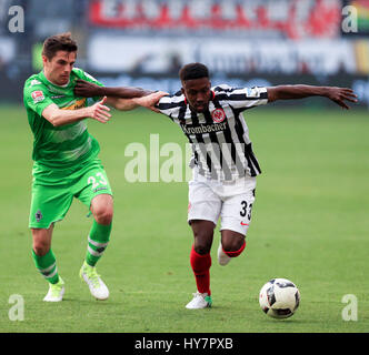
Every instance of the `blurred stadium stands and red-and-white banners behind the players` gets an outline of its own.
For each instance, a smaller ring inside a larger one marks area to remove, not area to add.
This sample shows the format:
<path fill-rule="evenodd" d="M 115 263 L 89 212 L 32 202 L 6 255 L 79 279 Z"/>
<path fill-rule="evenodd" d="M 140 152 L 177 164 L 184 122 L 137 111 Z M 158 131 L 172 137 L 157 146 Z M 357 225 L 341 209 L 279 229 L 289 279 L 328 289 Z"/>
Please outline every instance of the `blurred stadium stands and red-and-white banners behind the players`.
<path fill-rule="evenodd" d="M 10 30 L 12 6 L 23 31 Z M 77 65 L 107 85 L 176 92 L 179 68 L 200 61 L 213 84 L 343 85 L 369 106 L 368 0 L 0 0 L 0 24 L 6 102 L 42 69 L 42 41 L 71 31 Z"/>

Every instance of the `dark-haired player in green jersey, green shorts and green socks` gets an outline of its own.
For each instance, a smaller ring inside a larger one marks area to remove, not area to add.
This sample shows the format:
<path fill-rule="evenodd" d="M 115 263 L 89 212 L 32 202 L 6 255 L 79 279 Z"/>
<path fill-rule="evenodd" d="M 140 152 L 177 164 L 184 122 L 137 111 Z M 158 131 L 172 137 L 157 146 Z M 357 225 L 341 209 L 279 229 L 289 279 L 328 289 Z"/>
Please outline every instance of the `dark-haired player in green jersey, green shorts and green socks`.
<path fill-rule="evenodd" d="M 127 101 L 93 98 L 94 103 L 88 106 L 86 98 L 74 95 L 78 79 L 102 85 L 83 70 L 73 68 L 77 50 L 70 33 L 48 38 L 42 51 L 43 70 L 26 81 L 23 92 L 34 136 L 29 226 L 36 267 L 49 282 L 46 302 L 60 302 L 64 294 L 51 237 L 54 223 L 64 217 L 73 197 L 86 204 L 93 215 L 80 277 L 93 297 L 109 297 L 109 290 L 98 275 L 96 264 L 109 243 L 113 200 L 107 173 L 98 159 L 99 143 L 88 133 L 86 119 L 106 123 L 111 116 L 106 103 L 126 110 Z M 134 88 L 127 88 L 126 93 L 127 99 L 150 94 Z M 153 100 L 158 100 L 156 95 L 158 93 L 153 94 Z"/>

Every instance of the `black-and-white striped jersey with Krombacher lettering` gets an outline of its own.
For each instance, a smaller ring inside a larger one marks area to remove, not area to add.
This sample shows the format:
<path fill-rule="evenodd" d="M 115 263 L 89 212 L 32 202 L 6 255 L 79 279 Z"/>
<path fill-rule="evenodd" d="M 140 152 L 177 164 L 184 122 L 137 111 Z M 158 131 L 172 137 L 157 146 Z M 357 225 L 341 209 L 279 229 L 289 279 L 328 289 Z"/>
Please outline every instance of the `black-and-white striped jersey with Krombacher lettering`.
<path fill-rule="evenodd" d="M 161 113 L 180 125 L 192 148 L 190 166 L 200 175 L 232 181 L 261 173 L 242 112 L 268 103 L 267 88 L 211 88 L 209 109 L 191 110 L 181 92 L 160 99 Z"/>

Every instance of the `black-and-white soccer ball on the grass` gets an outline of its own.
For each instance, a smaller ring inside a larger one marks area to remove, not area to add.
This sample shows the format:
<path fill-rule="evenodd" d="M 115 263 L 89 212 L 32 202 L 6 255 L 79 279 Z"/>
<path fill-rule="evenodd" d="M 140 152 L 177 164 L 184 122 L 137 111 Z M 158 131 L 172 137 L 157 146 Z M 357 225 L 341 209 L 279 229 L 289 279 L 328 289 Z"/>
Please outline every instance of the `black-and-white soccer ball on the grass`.
<path fill-rule="evenodd" d="M 260 290 L 261 310 L 273 318 L 290 317 L 300 304 L 300 292 L 287 278 L 272 278 Z"/>

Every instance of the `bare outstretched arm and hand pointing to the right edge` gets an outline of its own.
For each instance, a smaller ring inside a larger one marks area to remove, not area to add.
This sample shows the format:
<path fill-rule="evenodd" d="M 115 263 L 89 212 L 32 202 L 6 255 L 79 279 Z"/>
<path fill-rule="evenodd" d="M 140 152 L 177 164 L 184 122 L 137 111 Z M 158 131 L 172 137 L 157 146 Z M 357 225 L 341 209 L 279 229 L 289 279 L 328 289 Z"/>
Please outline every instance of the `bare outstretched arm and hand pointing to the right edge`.
<path fill-rule="evenodd" d="M 357 95 L 349 88 L 311 87 L 311 85 L 278 85 L 268 88 L 268 101 L 326 97 L 342 109 L 350 109 L 345 101 L 358 102 Z"/>

